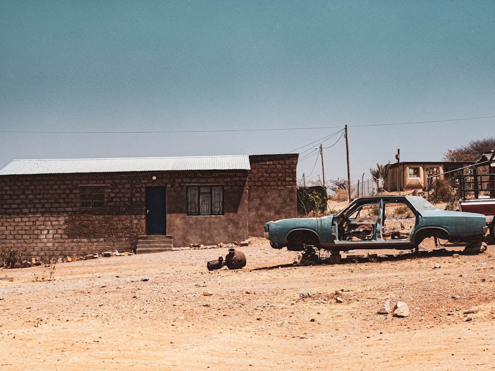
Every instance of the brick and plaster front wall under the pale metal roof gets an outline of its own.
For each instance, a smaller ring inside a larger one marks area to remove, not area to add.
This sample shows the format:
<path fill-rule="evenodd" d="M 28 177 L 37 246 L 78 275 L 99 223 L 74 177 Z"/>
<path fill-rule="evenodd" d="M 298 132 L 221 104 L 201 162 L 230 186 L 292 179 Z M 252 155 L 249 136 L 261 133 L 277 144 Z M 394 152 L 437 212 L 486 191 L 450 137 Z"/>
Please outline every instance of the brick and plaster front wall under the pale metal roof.
<path fill-rule="evenodd" d="M 133 250 L 138 236 L 146 234 L 147 186 L 166 189 L 166 232 L 175 246 L 232 242 L 247 237 L 247 227 L 240 228 L 246 207 L 239 209 L 246 179 L 247 171 L 2 176 L 0 245 L 40 259 Z M 82 185 L 104 186 L 104 208 L 80 208 Z M 225 215 L 186 216 L 187 185 L 223 185 Z M 231 234 L 222 225 L 230 226 Z"/>

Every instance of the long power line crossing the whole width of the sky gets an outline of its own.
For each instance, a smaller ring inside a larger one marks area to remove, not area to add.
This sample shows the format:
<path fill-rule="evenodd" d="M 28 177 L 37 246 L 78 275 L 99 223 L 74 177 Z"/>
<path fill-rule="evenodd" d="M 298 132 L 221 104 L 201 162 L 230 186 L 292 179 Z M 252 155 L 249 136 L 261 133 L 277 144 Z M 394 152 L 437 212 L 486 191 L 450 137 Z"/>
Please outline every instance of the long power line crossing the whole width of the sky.
<path fill-rule="evenodd" d="M 452 121 L 482 120 L 492 119 L 495 116 L 469 117 L 461 119 L 448 120 L 431 120 L 431 121 L 413 121 L 391 124 L 362 124 L 347 125 L 352 128 L 365 128 L 374 126 L 393 126 L 393 125 L 415 125 L 415 124 L 433 124 Z M 279 128 L 279 129 L 230 129 L 230 130 L 156 130 L 156 131 L 33 131 L 33 130 L 1 130 L 0 133 L 18 133 L 18 134 L 192 134 L 192 133 L 240 133 L 240 132 L 269 132 L 269 131 L 289 131 L 289 130 L 318 130 L 318 129 L 336 129 L 341 126 L 320 126 L 313 128 Z"/>

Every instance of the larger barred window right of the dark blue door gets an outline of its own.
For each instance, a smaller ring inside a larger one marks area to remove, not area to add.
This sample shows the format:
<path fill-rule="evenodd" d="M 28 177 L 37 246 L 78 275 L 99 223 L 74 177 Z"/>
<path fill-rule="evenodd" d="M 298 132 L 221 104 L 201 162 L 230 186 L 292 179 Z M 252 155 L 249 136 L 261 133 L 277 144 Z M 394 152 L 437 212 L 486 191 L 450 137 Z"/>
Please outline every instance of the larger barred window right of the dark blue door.
<path fill-rule="evenodd" d="M 223 215 L 223 186 L 187 187 L 187 215 Z"/>

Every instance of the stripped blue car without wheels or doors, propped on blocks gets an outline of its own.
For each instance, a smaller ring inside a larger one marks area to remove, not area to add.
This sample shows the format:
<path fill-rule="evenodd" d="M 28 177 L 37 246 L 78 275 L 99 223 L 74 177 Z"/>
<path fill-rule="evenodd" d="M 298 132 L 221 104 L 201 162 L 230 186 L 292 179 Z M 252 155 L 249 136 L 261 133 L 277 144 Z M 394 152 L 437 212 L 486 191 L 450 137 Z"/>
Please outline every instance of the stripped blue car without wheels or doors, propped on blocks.
<path fill-rule="evenodd" d="M 273 248 L 305 251 L 415 249 L 428 237 L 465 243 L 478 253 L 488 228 L 485 216 L 445 211 L 419 196 L 374 196 L 352 201 L 340 213 L 268 222 L 264 236 Z"/>

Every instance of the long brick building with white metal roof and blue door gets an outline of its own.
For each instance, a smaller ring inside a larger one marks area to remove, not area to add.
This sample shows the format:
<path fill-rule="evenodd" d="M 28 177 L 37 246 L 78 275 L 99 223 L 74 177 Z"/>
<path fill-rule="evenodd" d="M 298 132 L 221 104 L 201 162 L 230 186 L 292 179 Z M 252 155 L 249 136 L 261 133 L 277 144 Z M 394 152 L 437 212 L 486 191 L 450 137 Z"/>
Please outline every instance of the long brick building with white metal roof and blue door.
<path fill-rule="evenodd" d="M 0 245 L 46 259 L 262 236 L 297 215 L 297 158 L 14 160 L 0 170 Z"/>

